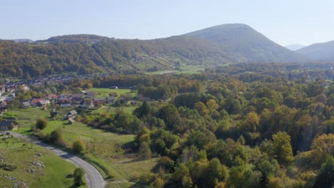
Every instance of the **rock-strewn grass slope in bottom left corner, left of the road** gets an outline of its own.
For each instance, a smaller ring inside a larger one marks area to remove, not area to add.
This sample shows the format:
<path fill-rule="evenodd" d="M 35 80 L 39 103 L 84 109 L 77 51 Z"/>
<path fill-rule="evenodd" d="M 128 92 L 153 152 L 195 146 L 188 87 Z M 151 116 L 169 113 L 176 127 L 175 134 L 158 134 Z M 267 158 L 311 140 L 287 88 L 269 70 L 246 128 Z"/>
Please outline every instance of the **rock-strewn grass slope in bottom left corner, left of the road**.
<path fill-rule="evenodd" d="M 8 140 L 12 142 L 8 148 L 4 143 L 0 143 L 0 155 L 4 162 L 17 165 L 17 169 L 14 171 L 0 169 L 0 187 L 23 187 L 23 184 L 29 187 L 71 187 L 74 184 L 74 179 L 68 177 L 76 168 L 74 164 L 66 162 L 43 147 L 34 145 L 30 149 L 30 145 L 24 147 L 23 142 L 16 138 Z M 45 168 L 38 167 L 32 162 L 41 162 Z M 28 172 L 25 169 L 34 169 L 35 172 Z"/>

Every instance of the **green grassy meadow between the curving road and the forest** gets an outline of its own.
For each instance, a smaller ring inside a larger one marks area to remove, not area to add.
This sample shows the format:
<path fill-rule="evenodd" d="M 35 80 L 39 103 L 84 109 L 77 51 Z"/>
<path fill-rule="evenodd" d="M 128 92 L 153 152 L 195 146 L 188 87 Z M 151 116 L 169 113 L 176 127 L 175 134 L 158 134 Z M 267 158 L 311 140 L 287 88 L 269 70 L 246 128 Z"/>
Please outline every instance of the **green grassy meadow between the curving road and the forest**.
<path fill-rule="evenodd" d="M 108 89 L 109 90 L 109 89 Z M 109 93 L 108 92 L 105 92 Z M 107 94 L 108 95 L 108 94 Z M 126 113 L 132 113 L 135 107 L 121 107 Z M 36 120 L 40 117 L 47 117 L 49 124 L 46 129 L 42 130 L 44 134 L 48 134 L 56 129 L 61 129 L 63 132 L 63 139 L 66 145 L 66 150 L 71 149 L 71 145 L 75 140 L 83 140 L 85 143 L 90 144 L 93 142 L 98 151 L 91 152 L 86 150 L 82 156 L 85 160 L 93 164 L 98 169 L 104 178 L 108 179 L 112 174 L 114 177 L 112 184 L 113 187 L 131 187 L 133 182 L 128 180 L 133 177 L 138 177 L 143 172 L 148 172 L 156 165 L 156 160 L 136 161 L 136 154 L 126 155 L 124 152 L 113 153 L 113 145 L 117 147 L 125 147 L 125 145 L 132 145 L 135 135 L 120 135 L 113 132 L 106 132 L 103 130 L 95 129 L 85 125 L 81 122 L 74 122 L 73 125 L 67 125 L 67 120 L 61 120 L 61 118 L 69 112 L 71 108 L 64 108 L 59 111 L 59 115 L 56 120 L 49 118 L 49 110 L 40 110 L 34 108 L 11 110 L 12 115 L 16 115 L 17 122 L 19 122 L 19 132 L 24 135 L 30 135 L 31 125 L 36 123 Z M 101 108 L 94 110 L 91 113 L 114 113 L 116 108 Z M 101 147 L 99 147 L 101 145 Z M 103 149 L 103 147 L 106 148 Z M 101 152 L 100 152 L 101 151 Z"/>

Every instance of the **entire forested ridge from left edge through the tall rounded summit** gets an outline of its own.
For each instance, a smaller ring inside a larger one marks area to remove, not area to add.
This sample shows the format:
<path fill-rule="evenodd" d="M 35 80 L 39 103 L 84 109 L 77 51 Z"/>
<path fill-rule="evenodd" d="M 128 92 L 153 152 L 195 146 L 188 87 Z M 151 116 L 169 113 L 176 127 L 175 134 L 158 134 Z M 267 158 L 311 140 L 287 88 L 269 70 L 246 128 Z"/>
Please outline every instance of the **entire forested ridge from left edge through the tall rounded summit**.
<path fill-rule="evenodd" d="M 243 24 L 226 24 L 152 40 L 81 34 L 34 43 L 0 41 L 0 75 L 23 78 L 64 72 L 157 71 L 180 63 L 220 65 L 302 60 L 300 55 Z"/>

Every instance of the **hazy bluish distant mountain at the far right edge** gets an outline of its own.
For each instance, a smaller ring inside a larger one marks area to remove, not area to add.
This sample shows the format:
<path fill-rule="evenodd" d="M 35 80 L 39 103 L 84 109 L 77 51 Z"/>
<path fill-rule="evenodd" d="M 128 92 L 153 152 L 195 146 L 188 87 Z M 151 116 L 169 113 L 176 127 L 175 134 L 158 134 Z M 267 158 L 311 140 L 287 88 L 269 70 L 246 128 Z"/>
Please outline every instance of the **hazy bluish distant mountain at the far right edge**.
<path fill-rule="evenodd" d="M 315 43 L 296 52 L 312 60 L 334 61 L 334 41 Z"/>

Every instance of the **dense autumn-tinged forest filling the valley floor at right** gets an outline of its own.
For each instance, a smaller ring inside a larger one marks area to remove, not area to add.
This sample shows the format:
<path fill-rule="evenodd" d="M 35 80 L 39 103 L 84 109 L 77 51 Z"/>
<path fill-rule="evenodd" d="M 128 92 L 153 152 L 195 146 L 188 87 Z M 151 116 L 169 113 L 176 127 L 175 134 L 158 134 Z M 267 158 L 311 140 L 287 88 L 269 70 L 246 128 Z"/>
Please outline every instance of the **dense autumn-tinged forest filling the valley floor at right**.
<path fill-rule="evenodd" d="M 138 159 L 159 158 L 156 171 L 138 179 L 141 184 L 333 187 L 334 71 L 327 66 L 237 64 L 192 75 L 113 75 L 46 85 L 29 95 L 49 87 L 70 92 L 85 82 L 136 85 L 151 100 L 132 114 L 83 112 L 80 120 L 135 134 L 131 150 Z"/>

